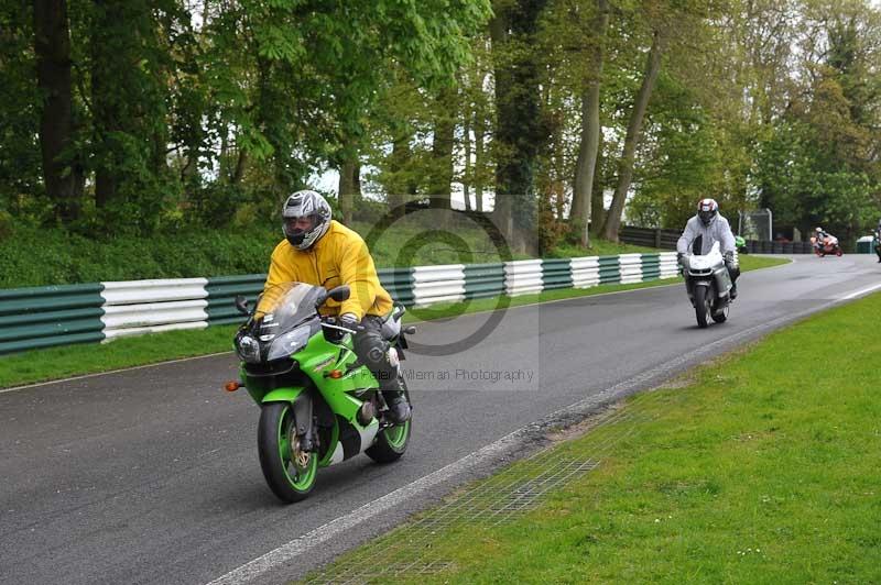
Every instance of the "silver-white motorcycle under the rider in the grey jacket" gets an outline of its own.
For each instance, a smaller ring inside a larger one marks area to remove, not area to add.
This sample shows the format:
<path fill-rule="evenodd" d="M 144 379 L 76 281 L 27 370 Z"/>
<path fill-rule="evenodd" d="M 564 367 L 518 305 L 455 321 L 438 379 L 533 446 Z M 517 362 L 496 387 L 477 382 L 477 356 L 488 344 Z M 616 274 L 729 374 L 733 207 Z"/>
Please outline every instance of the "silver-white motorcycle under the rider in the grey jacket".
<path fill-rule="evenodd" d="M 697 327 L 704 329 L 710 319 L 724 323 L 728 319 L 732 284 L 719 243 L 713 244 L 709 254 L 683 256 L 682 264 L 685 290 L 695 308 Z"/>

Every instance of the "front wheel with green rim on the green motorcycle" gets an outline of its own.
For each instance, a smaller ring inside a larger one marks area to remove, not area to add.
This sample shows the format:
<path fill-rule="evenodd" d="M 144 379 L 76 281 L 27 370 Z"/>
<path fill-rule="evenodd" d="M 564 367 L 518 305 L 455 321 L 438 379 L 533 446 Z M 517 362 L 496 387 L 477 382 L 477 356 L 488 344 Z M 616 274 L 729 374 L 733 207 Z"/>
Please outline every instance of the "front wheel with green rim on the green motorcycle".
<path fill-rule="evenodd" d="M 309 495 L 318 472 L 318 456 L 300 450 L 290 402 L 263 405 L 257 448 L 263 477 L 273 494 L 287 503 L 300 501 Z"/>

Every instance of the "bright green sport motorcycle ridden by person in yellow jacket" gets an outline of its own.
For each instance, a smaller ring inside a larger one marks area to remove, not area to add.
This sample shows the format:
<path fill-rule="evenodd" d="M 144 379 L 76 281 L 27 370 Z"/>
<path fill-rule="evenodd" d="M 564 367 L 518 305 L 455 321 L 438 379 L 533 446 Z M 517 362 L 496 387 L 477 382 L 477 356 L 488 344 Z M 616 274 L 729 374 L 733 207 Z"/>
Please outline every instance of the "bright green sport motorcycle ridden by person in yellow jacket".
<path fill-rule="evenodd" d="M 286 283 L 265 290 L 252 311 L 244 298 L 236 299 L 249 318 L 235 339 L 241 382 L 226 389 L 244 387 L 260 406 L 260 466 L 272 492 L 287 503 L 308 496 L 320 467 L 359 453 L 389 463 L 410 442 L 411 420 L 388 420 L 379 384 L 355 354 L 356 331 L 318 312 L 327 299 L 348 298 L 348 286 L 328 291 Z M 395 305 L 382 328 L 393 365 L 403 358 L 405 333 L 415 332 L 401 327 L 404 311 Z M 401 383 L 406 388 L 403 377 Z"/>

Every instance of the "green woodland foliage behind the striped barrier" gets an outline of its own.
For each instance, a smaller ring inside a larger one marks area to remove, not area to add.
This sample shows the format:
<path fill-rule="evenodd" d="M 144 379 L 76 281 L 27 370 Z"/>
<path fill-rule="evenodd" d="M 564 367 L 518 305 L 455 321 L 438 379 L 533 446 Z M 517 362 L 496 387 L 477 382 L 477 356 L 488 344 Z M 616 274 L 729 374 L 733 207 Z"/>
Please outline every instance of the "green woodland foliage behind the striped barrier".
<path fill-rule="evenodd" d="M 729 216 L 771 207 L 777 225 L 823 222 L 846 238 L 874 222 L 881 11 L 869 0 L 616 0 L 600 40 L 602 5 L 68 0 L 74 135 L 62 158 L 85 181 L 81 217 L 63 221 L 96 243 L 248 230 L 346 163 L 362 169 L 363 221 L 452 181 L 498 192 L 514 249 L 537 235 L 550 253 L 578 231 L 567 216 L 584 91 L 599 81 L 601 199 L 657 32 L 630 221 L 677 228 L 711 196 Z M 32 20 L 30 4 L 0 0 L 0 210 L 54 228 Z"/>

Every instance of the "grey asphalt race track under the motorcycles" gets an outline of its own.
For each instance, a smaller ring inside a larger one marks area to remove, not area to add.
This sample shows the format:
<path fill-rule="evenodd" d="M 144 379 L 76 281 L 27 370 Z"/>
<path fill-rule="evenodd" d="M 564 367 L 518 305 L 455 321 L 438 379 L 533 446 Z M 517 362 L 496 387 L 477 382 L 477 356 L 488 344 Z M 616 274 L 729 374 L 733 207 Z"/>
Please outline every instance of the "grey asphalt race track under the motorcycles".
<path fill-rule="evenodd" d="M 879 285 L 873 255 L 798 256 L 744 274 L 729 321 L 707 330 L 681 285 L 509 309 L 477 343 L 463 340 L 488 313 L 424 323 L 414 341 L 456 351 L 403 363 L 405 457 L 324 470 L 293 506 L 264 485 L 257 406 L 220 389 L 232 355 L 0 390 L 0 583 L 283 582 L 529 449 L 510 435 L 524 426 Z"/>

